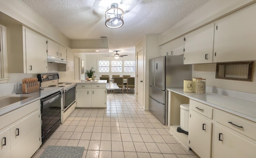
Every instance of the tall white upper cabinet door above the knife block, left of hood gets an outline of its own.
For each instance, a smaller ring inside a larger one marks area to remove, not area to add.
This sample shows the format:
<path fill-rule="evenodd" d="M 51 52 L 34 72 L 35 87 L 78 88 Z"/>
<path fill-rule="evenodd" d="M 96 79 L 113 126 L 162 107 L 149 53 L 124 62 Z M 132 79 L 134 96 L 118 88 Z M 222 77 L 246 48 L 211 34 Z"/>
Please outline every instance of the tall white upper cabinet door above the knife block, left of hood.
<path fill-rule="evenodd" d="M 25 28 L 26 73 L 47 72 L 46 38 Z"/>

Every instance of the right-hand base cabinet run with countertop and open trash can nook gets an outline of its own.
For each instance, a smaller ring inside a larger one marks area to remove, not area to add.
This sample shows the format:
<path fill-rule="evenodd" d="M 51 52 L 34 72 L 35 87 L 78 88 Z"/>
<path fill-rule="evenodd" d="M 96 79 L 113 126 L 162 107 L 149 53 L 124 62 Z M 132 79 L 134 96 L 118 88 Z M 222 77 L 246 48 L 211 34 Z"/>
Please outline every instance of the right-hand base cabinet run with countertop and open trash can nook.
<path fill-rule="evenodd" d="M 256 102 L 206 92 L 168 89 L 170 132 L 187 148 L 204 158 L 256 155 Z M 190 104 L 188 135 L 177 132 L 180 104 Z"/>

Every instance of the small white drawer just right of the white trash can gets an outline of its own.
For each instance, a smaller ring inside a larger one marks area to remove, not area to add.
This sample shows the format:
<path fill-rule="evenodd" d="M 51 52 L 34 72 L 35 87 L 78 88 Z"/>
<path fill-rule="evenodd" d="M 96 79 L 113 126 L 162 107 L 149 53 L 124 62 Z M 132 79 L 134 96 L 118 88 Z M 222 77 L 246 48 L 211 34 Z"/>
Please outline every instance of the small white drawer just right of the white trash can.
<path fill-rule="evenodd" d="M 213 110 L 212 107 L 191 99 L 189 101 L 189 107 L 190 107 L 190 110 L 194 110 L 195 112 L 198 112 L 199 114 L 202 114 L 212 119 L 212 110 Z"/>

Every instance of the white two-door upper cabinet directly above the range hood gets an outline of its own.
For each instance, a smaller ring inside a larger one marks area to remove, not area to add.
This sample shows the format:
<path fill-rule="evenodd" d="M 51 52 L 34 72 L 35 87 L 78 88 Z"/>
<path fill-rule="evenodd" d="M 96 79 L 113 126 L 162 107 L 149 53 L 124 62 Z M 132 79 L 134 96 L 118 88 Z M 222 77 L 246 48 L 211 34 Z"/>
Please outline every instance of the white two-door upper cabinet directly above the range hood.
<path fill-rule="evenodd" d="M 65 60 L 67 59 L 67 48 L 49 39 L 47 40 L 47 53 L 48 56 L 54 56 Z"/>

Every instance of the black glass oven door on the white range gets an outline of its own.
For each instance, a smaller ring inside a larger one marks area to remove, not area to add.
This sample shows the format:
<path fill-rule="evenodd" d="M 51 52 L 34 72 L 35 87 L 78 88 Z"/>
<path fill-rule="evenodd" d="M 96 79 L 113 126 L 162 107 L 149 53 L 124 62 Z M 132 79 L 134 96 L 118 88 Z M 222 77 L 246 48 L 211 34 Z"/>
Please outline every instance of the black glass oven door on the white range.
<path fill-rule="evenodd" d="M 76 102 L 76 85 L 63 91 L 63 111 Z"/>

